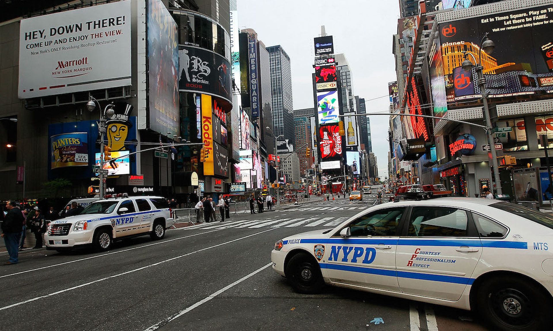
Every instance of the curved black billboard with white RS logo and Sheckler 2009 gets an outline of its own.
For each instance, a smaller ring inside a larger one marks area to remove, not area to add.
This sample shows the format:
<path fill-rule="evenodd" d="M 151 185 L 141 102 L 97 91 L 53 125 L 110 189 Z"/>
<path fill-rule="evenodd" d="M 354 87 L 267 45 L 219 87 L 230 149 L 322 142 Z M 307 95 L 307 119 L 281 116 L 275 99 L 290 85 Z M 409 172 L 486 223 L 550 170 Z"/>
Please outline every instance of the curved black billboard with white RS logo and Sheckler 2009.
<path fill-rule="evenodd" d="M 231 63 L 216 52 L 179 45 L 178 80 L 179 91 L 210 94 L 232 103 Z"/>

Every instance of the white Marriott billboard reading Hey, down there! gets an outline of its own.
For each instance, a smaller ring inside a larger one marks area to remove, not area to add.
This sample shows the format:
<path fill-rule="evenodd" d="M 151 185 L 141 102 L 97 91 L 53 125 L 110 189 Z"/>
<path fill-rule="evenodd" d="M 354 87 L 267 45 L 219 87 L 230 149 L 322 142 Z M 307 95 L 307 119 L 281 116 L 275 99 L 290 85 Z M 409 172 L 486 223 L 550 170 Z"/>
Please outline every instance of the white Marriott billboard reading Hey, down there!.
<path fill-rule="evenodd" d="M 18 97 L 131 85 L 129 59 L 131 2 L 22 19 Z"/>

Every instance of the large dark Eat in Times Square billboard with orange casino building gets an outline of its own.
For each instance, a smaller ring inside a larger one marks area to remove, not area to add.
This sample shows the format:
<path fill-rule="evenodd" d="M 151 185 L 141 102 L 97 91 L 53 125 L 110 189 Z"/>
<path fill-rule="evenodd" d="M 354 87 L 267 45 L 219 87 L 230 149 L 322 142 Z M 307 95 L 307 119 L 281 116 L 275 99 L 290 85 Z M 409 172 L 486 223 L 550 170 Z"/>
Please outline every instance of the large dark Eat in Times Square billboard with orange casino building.
<path fill-rule="evenodd" d="M 476 67 L 461 67 L 464 53 L 482 55 L 486 92 L 494 103 L 553 96 L 551 6 L 510 10 L 439 24 L 447 104 L 477 101 Z M 479 51 L 484 33 L 494 40 L 492 54 Z M 468 59 L 472 60 L 471 56 Z"/>

